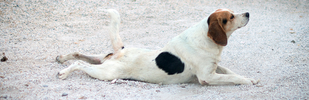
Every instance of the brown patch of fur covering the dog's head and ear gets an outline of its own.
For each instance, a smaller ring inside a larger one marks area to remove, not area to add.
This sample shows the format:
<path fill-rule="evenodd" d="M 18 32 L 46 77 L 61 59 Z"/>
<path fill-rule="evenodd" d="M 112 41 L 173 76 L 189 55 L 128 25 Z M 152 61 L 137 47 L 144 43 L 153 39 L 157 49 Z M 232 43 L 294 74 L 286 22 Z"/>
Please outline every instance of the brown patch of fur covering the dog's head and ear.
<path fill-rule="evenodd" d="M 230 11 L 219 11 L 212 13 L 207 20 L 207 36 L 220 46 L 227 44 L 226 23 L 230 21 L 230 16 Z"/>

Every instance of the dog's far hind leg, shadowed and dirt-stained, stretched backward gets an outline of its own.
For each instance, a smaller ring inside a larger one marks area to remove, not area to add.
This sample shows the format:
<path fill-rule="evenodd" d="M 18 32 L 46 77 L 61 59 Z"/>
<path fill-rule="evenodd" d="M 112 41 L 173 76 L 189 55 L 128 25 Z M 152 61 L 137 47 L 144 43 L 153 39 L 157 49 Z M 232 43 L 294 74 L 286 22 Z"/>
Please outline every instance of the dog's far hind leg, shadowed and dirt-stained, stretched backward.
<path fill-rule="evenodd" d="M 61 55 L 56 57 L 56 61 L 58 63 L 64 63 L 68 60 L 84 60 L 87 61 L 88 63 L 91 64 L 102 64 L 104 60 L 107 59 L 107 57 L 111 56 L 112 54 L 99 54 L 99 55 L 84 55 L 83 53 L 80 52 L 72 52 L 66 55 Z"/>

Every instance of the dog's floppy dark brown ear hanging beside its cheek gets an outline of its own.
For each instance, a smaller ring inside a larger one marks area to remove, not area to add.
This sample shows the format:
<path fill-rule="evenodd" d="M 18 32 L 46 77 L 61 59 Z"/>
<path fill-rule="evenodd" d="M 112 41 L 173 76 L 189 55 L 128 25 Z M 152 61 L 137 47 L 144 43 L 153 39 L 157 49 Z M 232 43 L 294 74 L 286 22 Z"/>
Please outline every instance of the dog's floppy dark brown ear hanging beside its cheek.
<path fill-rule="evenodd" d="M 209 23 L 207 36 L 220 46 L 227 44 L 226 32 L 218 20 Z"/>

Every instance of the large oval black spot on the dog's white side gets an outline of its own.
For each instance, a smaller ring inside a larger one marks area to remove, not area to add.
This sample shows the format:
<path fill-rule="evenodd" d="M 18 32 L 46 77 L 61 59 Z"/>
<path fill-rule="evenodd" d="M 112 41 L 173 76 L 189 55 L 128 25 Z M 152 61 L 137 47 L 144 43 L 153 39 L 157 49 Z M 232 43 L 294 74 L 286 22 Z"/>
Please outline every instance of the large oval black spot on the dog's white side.
<path fill-rule="evenodd" d="M 184 63 L 175 55 L 169 52 L 162 52 L 155 58 L 157 66 L 164 70 L 168 75 L 182 73 Z"/>

